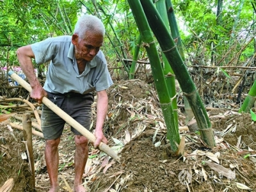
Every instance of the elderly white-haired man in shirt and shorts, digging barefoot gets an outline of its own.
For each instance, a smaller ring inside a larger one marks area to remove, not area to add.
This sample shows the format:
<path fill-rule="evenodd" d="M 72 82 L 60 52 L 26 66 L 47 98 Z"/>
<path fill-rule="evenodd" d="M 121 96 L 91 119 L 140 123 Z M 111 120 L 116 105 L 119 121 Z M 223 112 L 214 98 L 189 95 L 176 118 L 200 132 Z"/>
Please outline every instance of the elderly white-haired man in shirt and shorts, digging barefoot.
<path fill-rule="evenodd" d="M 47 38 L 42 42 L 20 47 L 17 56 L 20 67 L 31 85 L 31 98 L 42 103 L 48 97 L 54 104 L 89 129 L 92 91 L 97 92 L 97 122 L 95 127 L 97 147 L 100 141 L 108 143 L 102 126 L 108 110 L 106 89 L 113 84 L 104 54 L 100 51 L 105 28 L 101 20 L 83 15 L 77 20 L 72 36 Z M 44 88 L 35 76 L 31 58 L 40 65 L 51 61 Z M 51 182 L 49 191 L 58 191 L 58 145 L 65 122 L 47 106 L 42 107 L 42 131 L 45 138 L 45 161 Z M 85 191 L 82 184 L 84 167 L 88 158 L 88 139 L 74 127 L 76 152 L 74 191 Z"/>

